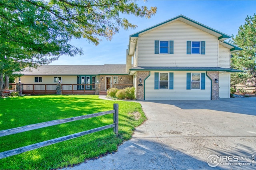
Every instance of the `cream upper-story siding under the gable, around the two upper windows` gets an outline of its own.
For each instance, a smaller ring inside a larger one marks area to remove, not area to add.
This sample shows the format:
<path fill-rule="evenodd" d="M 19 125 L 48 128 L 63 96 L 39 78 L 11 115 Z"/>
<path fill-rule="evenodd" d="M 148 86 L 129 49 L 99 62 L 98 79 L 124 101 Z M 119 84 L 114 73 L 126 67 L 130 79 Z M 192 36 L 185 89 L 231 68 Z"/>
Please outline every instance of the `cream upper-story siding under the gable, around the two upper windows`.
<path fill-rule="evenodd" d="M 154 54 L 154 41 L 174 41 L 174 54 Z M 205 55 L 187 55 L 187 41 L 205 41 Z M 218 66 L 218 37 L 175 21 L 138 38 L 138 66 Z"/>

